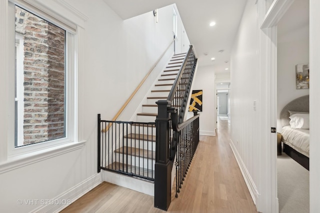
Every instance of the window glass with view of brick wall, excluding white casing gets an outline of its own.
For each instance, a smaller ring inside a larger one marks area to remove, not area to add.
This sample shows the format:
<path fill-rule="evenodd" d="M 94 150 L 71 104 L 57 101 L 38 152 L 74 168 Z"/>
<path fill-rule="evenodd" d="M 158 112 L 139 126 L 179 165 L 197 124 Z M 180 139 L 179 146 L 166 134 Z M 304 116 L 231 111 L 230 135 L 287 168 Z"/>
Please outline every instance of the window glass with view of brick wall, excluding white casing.
<path fill-rule="evenodd" d="M 65 37 L 15 5 L 15 147 L 65 137 Z"/>

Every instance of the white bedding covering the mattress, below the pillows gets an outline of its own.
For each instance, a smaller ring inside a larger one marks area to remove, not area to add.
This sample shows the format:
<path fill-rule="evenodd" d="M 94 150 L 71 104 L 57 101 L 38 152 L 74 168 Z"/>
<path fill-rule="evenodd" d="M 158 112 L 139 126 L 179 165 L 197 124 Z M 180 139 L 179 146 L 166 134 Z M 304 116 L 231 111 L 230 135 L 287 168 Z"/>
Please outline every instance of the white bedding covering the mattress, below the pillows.
<path fill-rule="evenodd" d="M 309 130 L 292 129 L 290 126 L 282 127 L 282 142 L 299 153 L 309 157 Z"/>

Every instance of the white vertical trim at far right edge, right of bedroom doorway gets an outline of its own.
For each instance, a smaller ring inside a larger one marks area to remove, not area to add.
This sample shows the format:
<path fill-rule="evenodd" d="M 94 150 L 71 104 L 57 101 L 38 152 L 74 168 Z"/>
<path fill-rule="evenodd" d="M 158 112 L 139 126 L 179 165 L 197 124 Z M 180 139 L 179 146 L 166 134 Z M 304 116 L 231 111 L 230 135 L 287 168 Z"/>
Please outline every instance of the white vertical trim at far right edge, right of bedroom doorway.
<path fill-rule="evenodd" d="M 319 164 L 319 150 L 320 150 L 320 100 L 318 98 L 320 91 L 320 28 L 318 20 L 320 20 L 320 1 L 309 1 L 309 64 L 310 69 L 310 167 L 309 167 L 309 193 L 310 193 L 310 213 L 320 212 L 319 192 L 320 192 L 320 164 Z"/>

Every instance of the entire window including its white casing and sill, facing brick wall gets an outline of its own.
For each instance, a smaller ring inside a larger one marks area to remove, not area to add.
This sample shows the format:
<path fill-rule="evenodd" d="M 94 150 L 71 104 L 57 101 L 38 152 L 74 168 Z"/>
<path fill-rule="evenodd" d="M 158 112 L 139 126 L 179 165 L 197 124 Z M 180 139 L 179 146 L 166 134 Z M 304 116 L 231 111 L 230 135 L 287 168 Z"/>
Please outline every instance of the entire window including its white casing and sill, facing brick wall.
<path fill-rule="evenodd" d="M 56 12 L 59 4 L 53 8 L 8 0 L 7 10 L 0 9 L 8 17 L 6 32 L 0 32 L 8 35 L 8 68 L 0 79 L 8 91 L 4 160 L 38 159 L 81 146 L 75 143 L 77 25 Z"/>

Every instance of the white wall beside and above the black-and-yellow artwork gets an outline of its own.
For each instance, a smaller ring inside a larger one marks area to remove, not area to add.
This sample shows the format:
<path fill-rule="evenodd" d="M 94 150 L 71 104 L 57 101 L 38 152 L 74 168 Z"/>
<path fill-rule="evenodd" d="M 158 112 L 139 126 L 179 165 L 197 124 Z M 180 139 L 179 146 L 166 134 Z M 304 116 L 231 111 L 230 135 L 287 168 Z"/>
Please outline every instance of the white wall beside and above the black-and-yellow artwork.
<path fill-rule="evenodd" d="M 202 90 L 202 112 L 199 112 L 201 135 L 215 135 L 214 70 L 212 66 L 198 66 L 192 90 Z M 188 112 L 188 117 L 193 113 Z"/>

